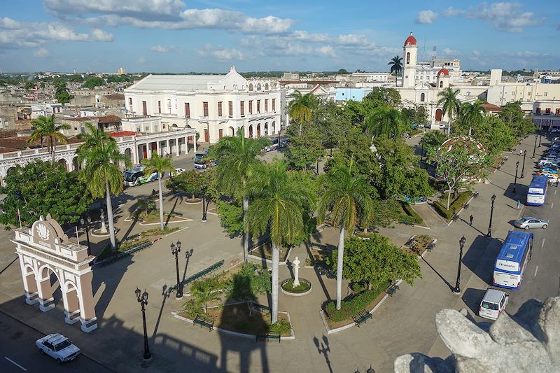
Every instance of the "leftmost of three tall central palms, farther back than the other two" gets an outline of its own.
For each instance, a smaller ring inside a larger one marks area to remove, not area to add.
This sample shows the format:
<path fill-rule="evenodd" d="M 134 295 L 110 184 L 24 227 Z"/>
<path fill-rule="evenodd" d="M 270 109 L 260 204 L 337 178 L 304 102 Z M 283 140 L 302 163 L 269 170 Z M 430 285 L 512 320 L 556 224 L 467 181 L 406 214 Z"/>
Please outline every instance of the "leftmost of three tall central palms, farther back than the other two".
<path fill-rule="evenodd" d="M 210 148 L 211 157 L 220 158 L 216 167 L 216 180 L 218 187 L 223 192 L 234 195 L 243 200 L 243 216 L 247 214 L 249 207 L 249 195 L 247 193 L 247 181 L 257 164 L 261 161 L 257 155 L 268 145 L 268 139 L 258 137 L 257 139 L 246 139 L 243 128 L 237 130 L 237 136 L 225 136 Z M 248 232 L 245 232 L 243 240 L 243 258 L 247 261 L 248 255 Z"/>

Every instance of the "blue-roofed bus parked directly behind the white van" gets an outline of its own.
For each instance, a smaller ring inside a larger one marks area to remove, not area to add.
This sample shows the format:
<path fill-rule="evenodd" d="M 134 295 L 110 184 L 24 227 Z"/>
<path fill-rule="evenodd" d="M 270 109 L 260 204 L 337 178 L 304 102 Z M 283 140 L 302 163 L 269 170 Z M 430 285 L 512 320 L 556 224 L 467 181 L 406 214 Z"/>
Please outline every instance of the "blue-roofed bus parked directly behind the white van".
<path fill-rule="evenodd" d="M 527 262 L 533 252 L 533 234 L 510 230 L 496 257 L 492 283 L 507 289 L 519 289 Z"/>

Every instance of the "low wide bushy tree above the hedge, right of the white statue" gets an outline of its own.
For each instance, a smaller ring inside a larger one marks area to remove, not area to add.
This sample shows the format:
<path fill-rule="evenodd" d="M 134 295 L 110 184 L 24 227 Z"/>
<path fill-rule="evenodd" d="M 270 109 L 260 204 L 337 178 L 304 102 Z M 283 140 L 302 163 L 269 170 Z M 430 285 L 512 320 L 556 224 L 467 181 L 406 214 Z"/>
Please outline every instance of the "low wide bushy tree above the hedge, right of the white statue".
<path fill-rule="evenodd" d="M 333 250 L 327 264 L 334 269 L 338 260 L 339 253 Z M 397 279 L 413 285 L 416 277 L 422 278 L 418 257 L 377 233 L 367 240 L 355 236 L 345 240 L 343 275 L 355 283 L 367 282 L 368 286 L 379 286 Z"/>

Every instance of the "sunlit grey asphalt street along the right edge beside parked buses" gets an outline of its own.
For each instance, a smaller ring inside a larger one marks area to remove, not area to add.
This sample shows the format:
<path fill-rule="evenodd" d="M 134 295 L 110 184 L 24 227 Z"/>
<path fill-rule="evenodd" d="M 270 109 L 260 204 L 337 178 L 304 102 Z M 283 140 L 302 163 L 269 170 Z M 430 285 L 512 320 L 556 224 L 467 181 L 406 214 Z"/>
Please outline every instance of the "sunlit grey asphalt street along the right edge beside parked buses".
<path fill-rule="evenodd" d="M 549 141 L 543 137 L 542 146 L 547 146 Z M 541 148 L 542 149 L 542 148 Z M 528 158 L 531 160 L 531 158 Z M 538 162 L 538 157 L 535 157 Z M 533 168 L 533 170 L 535 170 Z M 528 185 L 533 178 L 533 172 L 527 172 L 523 180 L 519 181 L 521 185 Z M 522 188 L 526 191 L 526 188 Z M 560 187 L 549 185 L 547 197 L 543 206 L 526 206 L 524 216 L 534 216 L 549 220 L 547 229 L 533 229 L 533 255 L 529 260 L 521 288 L 519 290 L 507 290 L 510 294 L 510 303 L 507 311 L 510 314 L 517 312 L 521 304 L 531 298 L 545 300 L 547 297 L 556 297 L 560 295 L 560 251 L 558 243 L 560 242 Z M 524 202 L 525 197 L 521 199 Z M 512 226 L 513 229 L 513 226 Z"/>

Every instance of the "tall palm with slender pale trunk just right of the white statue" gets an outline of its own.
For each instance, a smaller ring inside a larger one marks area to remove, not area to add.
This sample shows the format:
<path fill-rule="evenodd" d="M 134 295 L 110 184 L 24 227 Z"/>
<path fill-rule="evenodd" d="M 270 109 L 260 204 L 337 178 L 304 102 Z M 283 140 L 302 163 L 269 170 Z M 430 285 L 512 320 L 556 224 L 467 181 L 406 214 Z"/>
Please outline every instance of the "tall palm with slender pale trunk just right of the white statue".
<path fill-rule="evenodd" d="M 337 309 L 342 302 L 342 261 L 344 260 L 344 230 L 353 234 L 358 220 L 370 221 L 373 202 L 367 192 L 367 182 L 361 175 L 352 176 L 350 167 L 337 167 L 329 171 L 326 189 L 318 208 L 318 221 L 324 221 L 331 211 L 333 226 L 339 227 L 337 255 Z"/>

